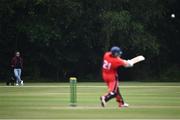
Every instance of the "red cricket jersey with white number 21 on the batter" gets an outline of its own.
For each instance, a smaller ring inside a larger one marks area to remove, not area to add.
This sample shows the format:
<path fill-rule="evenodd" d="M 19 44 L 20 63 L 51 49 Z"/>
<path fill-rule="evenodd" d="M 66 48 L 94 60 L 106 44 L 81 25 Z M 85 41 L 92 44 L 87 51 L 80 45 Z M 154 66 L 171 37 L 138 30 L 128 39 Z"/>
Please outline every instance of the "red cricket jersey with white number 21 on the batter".
<path fill-rule="evenodd" d="M 116 80 L 117 69 L 120 66 L 125 66 L 126 62 L 119 57 L 113 57 L 111 52 L 104 54 L 104 61 L 102 66 L 102 77 L 105 81 Z"/>

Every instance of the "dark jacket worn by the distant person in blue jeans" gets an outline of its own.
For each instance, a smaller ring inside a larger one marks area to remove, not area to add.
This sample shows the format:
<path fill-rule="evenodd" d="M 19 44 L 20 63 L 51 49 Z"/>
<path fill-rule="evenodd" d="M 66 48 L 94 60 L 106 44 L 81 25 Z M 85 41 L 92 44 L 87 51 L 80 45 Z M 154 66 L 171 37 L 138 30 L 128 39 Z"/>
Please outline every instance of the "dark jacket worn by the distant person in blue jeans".
<path fill-rule="evenodd" d="M 11 60 L 11 67 L 12 68 L 23 68 L 23 59 L 21 57 L 13 57 Z"/>

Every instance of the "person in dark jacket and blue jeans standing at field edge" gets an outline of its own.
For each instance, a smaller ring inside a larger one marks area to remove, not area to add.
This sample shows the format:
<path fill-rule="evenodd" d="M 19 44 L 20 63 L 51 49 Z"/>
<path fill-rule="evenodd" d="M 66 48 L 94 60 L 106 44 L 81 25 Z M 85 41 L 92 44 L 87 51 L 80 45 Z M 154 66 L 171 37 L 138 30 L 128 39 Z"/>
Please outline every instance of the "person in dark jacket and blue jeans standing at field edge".
<path fill-rule="evenodd" d="M 16 86 L 23 85 L 21 80 L 21 72 L 23 68 L 23 59 L 20 56 L 20 52 L 16 52 L 15 56 L 11 60 L 11 67 L 14 71 L 14 76 L 16 77 Z"/>

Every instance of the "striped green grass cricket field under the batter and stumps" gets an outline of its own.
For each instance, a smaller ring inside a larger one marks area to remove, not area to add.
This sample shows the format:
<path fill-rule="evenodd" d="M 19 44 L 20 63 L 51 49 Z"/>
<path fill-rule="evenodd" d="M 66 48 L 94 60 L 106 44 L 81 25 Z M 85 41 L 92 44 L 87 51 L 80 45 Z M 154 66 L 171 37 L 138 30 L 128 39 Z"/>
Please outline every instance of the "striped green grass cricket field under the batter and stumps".
<path fill-rule="evenodd" d="M 180 83 L 123 82 L 120 90 L 128 108 L 114 99 L 100 106 L 104 83 L 78 83 L 77 107 L 68 83 L 0 84 L 0 119 L 180 119 Z"/>

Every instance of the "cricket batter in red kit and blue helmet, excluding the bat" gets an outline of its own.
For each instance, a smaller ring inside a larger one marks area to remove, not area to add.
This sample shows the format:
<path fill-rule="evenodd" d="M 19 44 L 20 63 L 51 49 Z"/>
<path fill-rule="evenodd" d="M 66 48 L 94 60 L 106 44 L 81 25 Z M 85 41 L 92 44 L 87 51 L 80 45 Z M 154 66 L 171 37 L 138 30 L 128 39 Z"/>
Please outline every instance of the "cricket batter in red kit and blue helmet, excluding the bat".
<path fill-rule="evenodd" d="M 100 97 L 102 107 L 112 98 L 116 98 L 119 107 L 128 107 L 119 92 L 119 82 L 117 69 L 119 67 L 133 67 L 130 60 L 120 58 L 122 50 L 119 47 L 112 47 L 110 52 L 106 52 L 103 58 L 102 78 L 108 87 L 108 93 Z"/>

